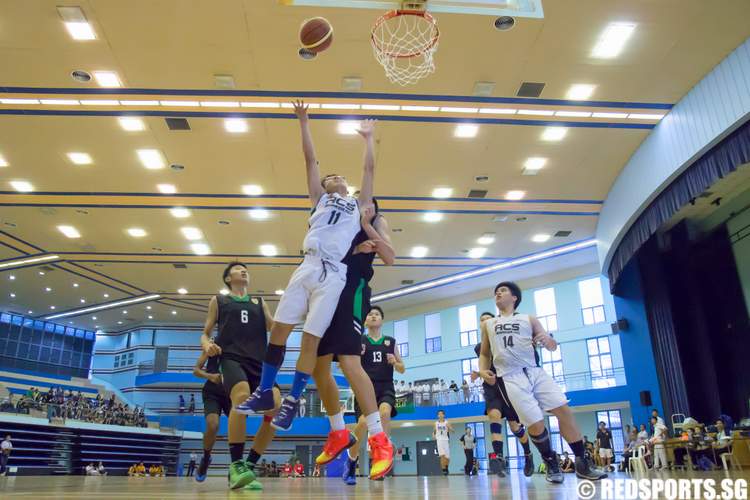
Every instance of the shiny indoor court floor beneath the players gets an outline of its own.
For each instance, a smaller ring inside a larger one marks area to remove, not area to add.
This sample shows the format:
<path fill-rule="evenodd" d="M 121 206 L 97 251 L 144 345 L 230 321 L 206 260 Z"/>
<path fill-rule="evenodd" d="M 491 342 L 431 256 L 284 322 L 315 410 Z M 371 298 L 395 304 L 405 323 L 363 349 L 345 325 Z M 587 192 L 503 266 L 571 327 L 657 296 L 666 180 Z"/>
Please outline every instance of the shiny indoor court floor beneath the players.
<path fill-rule="evenodd" d="M 610 474 L 610 478 L 627 479 L 630 475 Z M 733 472 L 665 472 L 650 474 L 650 478 L 712 478 L 717 483 L 724 478 L 750 480 L 749 471 Z M 131 477 L 86 477 L 86 476 L 17 476 L 0 478 L 2 498 L 57 498 L 65 499 L 128 499 L 141 498 L 453 498 L 513 500 L 573 500 L 578 481 L 573 474 L 565 475 L 563 484 L 550 484 L 544 476 L 535 474 L 526 479 L 513 471 L 505 478 L 496 476 L 449 476 L 445 477 L 394 477 L 384 482 L 371 482 L 359 478 L 357 486 L 345 485 L 338 478 L 263 479 L 263 491 L 227 490 L 224 478 L 210 477 L 204 483 L 196 483 L 183 477 L 131 478 Z M 597 494 L 595 498 L 599 498 Z"/>

